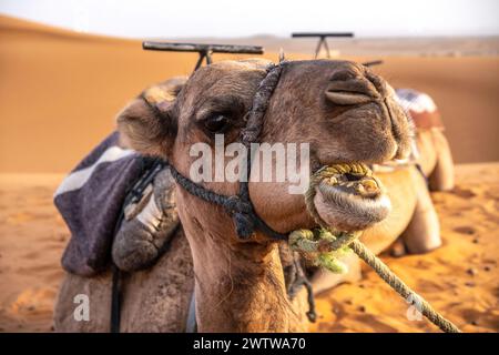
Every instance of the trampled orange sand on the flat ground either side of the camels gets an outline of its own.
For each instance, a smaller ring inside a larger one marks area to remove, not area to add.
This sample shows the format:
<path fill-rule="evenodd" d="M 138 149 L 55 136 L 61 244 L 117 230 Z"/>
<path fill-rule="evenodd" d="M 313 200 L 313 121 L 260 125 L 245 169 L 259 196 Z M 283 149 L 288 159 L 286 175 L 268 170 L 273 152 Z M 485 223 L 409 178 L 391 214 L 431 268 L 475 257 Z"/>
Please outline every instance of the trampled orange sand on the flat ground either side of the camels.
<path fill-rule="evenodd" d="M 0 331 L 49 332 L 69 232 L 52 205 L 59 174 L 0 174 Z M 444 246 L 383 260 L 465 332 L 499 332 L 499 163 L 460 165 L 434 194 Z M 370 270 L 316 298 L 316 332 L 438 332 Z"/>

